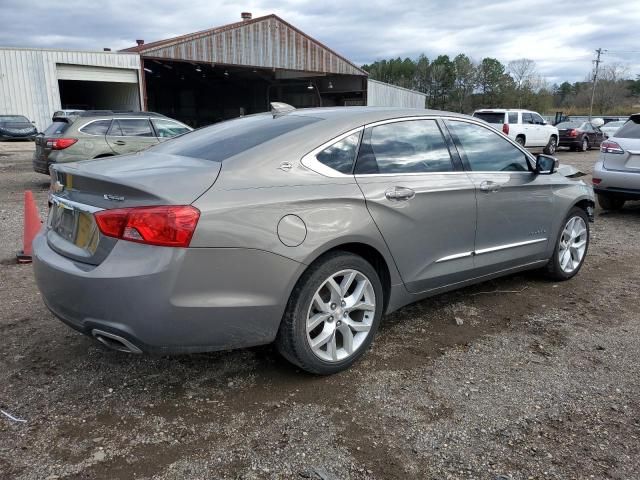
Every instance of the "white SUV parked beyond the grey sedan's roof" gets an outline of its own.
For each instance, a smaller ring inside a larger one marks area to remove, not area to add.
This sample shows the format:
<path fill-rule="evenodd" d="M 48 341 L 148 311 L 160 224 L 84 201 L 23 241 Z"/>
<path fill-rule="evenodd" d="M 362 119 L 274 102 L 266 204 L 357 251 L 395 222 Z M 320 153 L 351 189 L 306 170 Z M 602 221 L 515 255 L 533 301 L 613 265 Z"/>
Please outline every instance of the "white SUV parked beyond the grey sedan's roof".
<path fill-rule="evenodd" d="M 549 125 L 537 112 L 489 108 L 476 110 L 473 116 L 496 125 L 505 135 L 523 147 L 543 147 L 547 155 L 553 155 L 556 152 L 558 129 Z"/>

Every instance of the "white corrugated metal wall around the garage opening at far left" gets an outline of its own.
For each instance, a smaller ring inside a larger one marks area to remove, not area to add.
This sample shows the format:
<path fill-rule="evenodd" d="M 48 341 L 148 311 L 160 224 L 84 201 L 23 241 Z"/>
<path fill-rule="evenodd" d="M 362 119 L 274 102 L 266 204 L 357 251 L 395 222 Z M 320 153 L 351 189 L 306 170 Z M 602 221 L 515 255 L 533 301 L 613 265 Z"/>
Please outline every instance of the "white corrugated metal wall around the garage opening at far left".
<path fill-rule="evenodd" d="M 57 64 L 127 69 L 140 78 L 136 53 L 0 48 L 0 114 L 25 115 L 38 130 L 47 128 L 60 109 Z"/>

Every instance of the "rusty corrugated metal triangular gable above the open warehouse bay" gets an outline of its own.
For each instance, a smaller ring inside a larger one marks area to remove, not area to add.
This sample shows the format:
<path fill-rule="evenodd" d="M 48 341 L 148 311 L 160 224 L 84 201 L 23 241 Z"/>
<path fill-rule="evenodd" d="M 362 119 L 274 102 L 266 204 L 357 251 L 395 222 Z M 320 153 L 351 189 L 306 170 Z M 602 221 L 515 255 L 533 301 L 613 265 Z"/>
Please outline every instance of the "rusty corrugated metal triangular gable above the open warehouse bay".
<path fill-rule="evenodd" d="M 171 60 L 368 75 L 277 15 L 143 44 L 123 52 Z"/>

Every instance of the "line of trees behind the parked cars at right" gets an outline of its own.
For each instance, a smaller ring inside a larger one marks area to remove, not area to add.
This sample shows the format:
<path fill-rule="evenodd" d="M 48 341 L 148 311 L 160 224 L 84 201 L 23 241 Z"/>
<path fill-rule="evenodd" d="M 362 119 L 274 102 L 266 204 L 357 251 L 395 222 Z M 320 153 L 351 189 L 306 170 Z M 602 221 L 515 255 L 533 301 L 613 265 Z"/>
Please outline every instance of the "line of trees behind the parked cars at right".
<path fill-rule="evenodd" d="M 586 114 L 593 86 L 591 78 L 550 85 L 538 72 L 536 62 L 527 58 L 505 65 L 491 57 L 476 62 L 463 53 L 453 59 L 439 55 L 429 60 L 420 55 L 416 60 L 379 60 L 362 68 L 373 80 L 425 93 L 426 108 L 462 113 L 503 107 Z M 594 114 L 629 114 L 640 110 L 638 103 L 640 75 L 631 80 L 624 66 L 604 65 L 596 82 Z"/>

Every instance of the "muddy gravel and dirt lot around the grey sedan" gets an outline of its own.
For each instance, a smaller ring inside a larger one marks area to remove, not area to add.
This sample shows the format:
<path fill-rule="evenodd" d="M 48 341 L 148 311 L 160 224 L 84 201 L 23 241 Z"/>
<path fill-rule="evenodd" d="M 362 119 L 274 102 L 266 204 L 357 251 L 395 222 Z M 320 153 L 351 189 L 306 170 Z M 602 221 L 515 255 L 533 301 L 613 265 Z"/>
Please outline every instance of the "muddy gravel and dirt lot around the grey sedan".
<path fill-rule="evenodd" d="M 321 378 L 271 347 L 127 355 L 56 320 L 13 260 L 23 191 L 46 208 L 32 148 L 0 144 L 0 408 L 26 420 L 0 415 L 0 478 L 640 477 L 637 206 L 597 211 L 575 279 L 406 307 Z M 590 172 L 597 155 L 558 157 Z"/>

